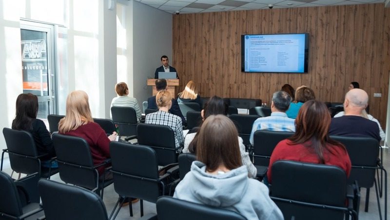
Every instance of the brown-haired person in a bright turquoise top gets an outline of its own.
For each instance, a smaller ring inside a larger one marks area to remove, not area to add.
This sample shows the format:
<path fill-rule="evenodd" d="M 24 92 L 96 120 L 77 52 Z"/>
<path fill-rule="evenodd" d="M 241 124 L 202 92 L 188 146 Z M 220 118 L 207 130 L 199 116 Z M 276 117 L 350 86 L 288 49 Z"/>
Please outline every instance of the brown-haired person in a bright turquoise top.
<path fill-rule="evenodd" d="M 303 103 L 315 99 L 314 92 L 307 86 L 300 86 L 295 91 L 295 101 L 290 104 L 286 114 L 289 118 L 296 118 Z"/>

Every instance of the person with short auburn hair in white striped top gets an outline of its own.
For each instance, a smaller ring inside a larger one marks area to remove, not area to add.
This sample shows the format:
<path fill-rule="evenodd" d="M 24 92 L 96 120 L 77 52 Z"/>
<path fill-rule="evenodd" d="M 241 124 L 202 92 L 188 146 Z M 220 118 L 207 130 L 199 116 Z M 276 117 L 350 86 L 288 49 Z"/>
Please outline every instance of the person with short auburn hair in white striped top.
<path fill-rule="evenodd" d="M 111 107 L 131 107 L 134 110 L 136 110 L 137 114 L 137 121 L 139 121 L 139 118 L 141 117 L 141 110 L 139 109 L 139 105 L 136 98 L 129 97 L 129 88 L 127 87 L 127 84 L 124 82 L 120 82 L 115 86 L 115 91 L 118 94 L 118 97 L 113 98 L 111 101 Z M 110 107 L 110 108 L 111 108 Z M 111 110 L 110 110 L 110 116 Z"/>

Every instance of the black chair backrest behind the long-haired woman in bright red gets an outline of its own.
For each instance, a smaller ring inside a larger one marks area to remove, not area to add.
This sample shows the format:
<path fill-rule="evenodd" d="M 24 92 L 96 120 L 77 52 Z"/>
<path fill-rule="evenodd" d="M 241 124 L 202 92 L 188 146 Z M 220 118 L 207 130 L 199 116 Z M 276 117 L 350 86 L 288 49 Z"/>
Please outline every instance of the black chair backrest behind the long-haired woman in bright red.
<path fill-rule="evenodd" d="M 288 187 L 286 187 L 288 186 Z M 344 219 L 343 210 L 295 202 L 345 207 L 347 175 L 333 165 L 276 161 L 272 165 L 271 198 L 285 219 Z M 281 201 L 275 198 L 284 199 Z"/>

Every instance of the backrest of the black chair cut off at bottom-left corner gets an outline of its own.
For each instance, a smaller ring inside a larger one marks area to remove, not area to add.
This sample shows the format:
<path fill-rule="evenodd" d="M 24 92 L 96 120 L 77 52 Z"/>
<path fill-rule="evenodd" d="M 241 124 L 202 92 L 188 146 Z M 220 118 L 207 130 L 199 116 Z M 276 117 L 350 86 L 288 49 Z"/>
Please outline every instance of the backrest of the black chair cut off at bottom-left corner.
<path fill-rule="evenodd" d="M 18 189 L 8 174 L 0 171 L 0 216 L 6 214 L 14 217 L 23 214 Z"/>

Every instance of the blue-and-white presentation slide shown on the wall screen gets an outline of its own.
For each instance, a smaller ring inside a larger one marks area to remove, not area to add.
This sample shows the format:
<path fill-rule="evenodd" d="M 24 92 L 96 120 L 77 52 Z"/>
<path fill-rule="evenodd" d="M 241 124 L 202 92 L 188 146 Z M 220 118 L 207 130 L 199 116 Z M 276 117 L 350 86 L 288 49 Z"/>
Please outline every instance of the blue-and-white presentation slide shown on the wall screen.
<path fill-rule="evenodd" d="M 245 35 L 245 72 L 303 73 L 305 35 Z"/>

